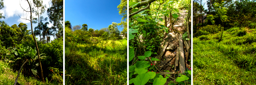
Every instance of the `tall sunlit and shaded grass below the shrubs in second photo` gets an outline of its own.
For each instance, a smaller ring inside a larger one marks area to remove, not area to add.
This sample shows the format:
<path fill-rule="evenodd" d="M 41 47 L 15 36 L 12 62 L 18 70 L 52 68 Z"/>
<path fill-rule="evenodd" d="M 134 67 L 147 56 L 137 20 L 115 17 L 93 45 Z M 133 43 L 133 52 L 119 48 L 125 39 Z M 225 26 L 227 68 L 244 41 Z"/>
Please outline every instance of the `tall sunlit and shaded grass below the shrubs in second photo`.
<path fill-rule="evenodd" d="M 75 50 L 65 47 L 66 85 L 127 84 L 127 40 L 109 41 L 105 49 L 78 44 Z"/>

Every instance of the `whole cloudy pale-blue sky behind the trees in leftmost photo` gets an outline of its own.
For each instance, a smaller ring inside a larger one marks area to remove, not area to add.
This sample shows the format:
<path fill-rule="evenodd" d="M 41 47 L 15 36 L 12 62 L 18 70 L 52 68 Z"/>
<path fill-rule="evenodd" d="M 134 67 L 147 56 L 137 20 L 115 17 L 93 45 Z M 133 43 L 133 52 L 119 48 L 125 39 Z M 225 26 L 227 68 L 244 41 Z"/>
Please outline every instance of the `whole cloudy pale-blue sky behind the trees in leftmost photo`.
<path fill-rule="evenodd" d="M 28 0 L 28 1 L 32 1 L 32 0 Z M 42 0 L 42 1 L 43 1 L 43 5 L 46 5 L 47 8 L 50 7 L 50 5 L 49 5 L 50 0 Z M 21 18 L 29 19 L 30 12 L 25 12 L 22 9 L 22 8 L 24 8 L 25 10 L 29 10 L 29 6 L 28 6 L 27 1 L 25 1 L 25 0 L 15 0 L 15 1 L 14 0 L 3 0 L 3 3 L 4 3 L 4 8 L 2 8 L 0 10 L 0 13 L 3 13 L 3 15 L 5 16 L 5 19 L 1 19 L 1 20 L 7 22 L 7 24 L 9 26 L 12 26 L 14 24 L 18 25 L 22 22 L 22 23 L 25 23 L 26 25 L 28 25 L 28 30 L 31 30 L 30 21 L 21 19 Z M 46 11 L 43 14 L 44 18 L 48 17 L 47 8 L 46 8 Z M 32 13 L 32 16 L 38 18 L 38 16 L 36 16 L 34 13 Z M 48 19 L 48 22 L 49 22 L 49 19 Z M 32 24 L 33 31 L 34 31 L 34 27 L 36 27 L 37 25 L 38 24 Z M 51 27 L 52 25 L 53 24 L 49 22 L 48 27 Z M 39 36 L 36 36 L 36 37 L 39 39 Z M 53 36 L 50 36 L 50 37 L 51 37 L 51 40 L 54 39 Z"/>

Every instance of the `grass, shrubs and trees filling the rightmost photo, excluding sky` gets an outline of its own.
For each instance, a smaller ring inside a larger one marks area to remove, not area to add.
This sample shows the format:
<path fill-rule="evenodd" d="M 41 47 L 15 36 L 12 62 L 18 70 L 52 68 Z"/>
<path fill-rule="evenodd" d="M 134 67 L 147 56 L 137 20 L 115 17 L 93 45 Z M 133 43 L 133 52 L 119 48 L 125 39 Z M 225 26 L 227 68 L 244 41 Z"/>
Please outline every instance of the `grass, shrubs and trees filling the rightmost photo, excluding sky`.
<path fill-rule="evenodd" d="M 256 84 L 255 3 L 194 0 L 194 84 Z"/>

